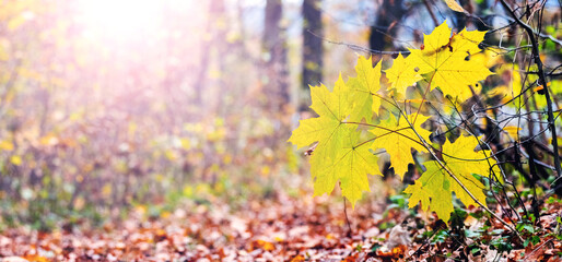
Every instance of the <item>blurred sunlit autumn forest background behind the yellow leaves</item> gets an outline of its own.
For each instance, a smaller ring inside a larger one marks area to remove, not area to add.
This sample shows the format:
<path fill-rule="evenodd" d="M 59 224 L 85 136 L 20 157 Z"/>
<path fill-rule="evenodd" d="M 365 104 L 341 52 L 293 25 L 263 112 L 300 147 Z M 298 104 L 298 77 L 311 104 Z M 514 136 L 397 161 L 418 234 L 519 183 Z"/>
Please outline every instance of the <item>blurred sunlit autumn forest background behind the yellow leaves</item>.
<path fill-rule="evenodd" d="M 518 40 L 500 4 L 460 3 L 473 15 L 435 0 L 0 1 L 0 227 L 312 198 L 285 142 L 312 116 L 308 85 L 444 20 Z"/>

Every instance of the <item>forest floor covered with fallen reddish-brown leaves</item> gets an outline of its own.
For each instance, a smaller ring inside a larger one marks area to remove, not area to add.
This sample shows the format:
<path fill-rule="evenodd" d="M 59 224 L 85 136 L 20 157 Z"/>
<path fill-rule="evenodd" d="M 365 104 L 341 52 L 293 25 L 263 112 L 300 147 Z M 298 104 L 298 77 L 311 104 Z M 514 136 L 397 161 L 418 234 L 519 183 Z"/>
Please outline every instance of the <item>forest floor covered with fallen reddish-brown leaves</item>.
<path fill-rule="evenodd" d="M 126 221 L 97 229 L 80 224 L 50 233 L 8 229 L 0 235 L 0 258 L 11 262 L 560 261 L 562 252 L 554 234 L 560 230 L 557 217 L 562 207 L 557 199 L 542 206 L 536 226 L 518 227 L 525 242 L 480 209 L 454 215 L 452 221 L 464 218 L 446 227 L 431 214 L 408 210 L 400 195 L 361 203 L 354 210 L 348 204 L 347 216 L 346 203 L 337 196 L 273 193 L 241 207 L 213 201 L 188 201 L 157 217 L 137 207 Z"/>

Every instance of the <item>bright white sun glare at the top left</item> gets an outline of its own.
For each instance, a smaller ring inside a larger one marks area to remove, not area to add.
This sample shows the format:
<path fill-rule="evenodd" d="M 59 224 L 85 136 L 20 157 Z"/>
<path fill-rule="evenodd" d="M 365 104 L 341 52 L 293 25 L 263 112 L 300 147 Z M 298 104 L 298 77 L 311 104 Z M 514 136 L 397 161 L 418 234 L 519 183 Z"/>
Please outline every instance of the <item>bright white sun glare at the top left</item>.
<path fill-rule="evenodd" d="M 89 36 L 131 40 L 159 29 L 163 3 L 159 0 L 80 0 L 80 20 Z"/>

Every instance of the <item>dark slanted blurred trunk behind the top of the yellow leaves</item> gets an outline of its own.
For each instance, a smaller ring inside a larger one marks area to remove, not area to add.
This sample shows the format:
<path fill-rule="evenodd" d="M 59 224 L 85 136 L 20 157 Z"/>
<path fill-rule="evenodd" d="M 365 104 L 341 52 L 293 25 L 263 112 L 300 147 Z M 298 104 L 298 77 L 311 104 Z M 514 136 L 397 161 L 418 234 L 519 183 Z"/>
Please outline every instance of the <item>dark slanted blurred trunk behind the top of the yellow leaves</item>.
<path fill-rule="evenodd" d="M 393 37 L 396 35 L 396 26 L 394 24 L 399 23 L 405 13 L 402 0 L 383 1 L 383 4 L 376 11 L 375 22 L 371 26 L 371 34 L 368 36 L 368 48 L 371 50 L 382 51 L 391 46 Z M 373 62 L 382 58 L 378 53 L 372 55 Z"/>

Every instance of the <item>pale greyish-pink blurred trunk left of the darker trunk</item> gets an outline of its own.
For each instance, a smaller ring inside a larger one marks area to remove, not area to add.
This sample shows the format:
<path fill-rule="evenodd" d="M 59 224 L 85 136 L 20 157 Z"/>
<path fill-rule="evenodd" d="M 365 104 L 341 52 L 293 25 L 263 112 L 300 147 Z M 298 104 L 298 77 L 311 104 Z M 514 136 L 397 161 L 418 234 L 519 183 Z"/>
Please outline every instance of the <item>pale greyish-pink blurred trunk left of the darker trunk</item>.
<path fill-rule="evenodd" d="M 266 74 L 265 90 L 268 107 L 280 111 L 290 100 L 289 70 L 286 67 L 285 29 L 281 25 L 283 4 L 281 0 L 267 0 L 262 38 Z"/>

